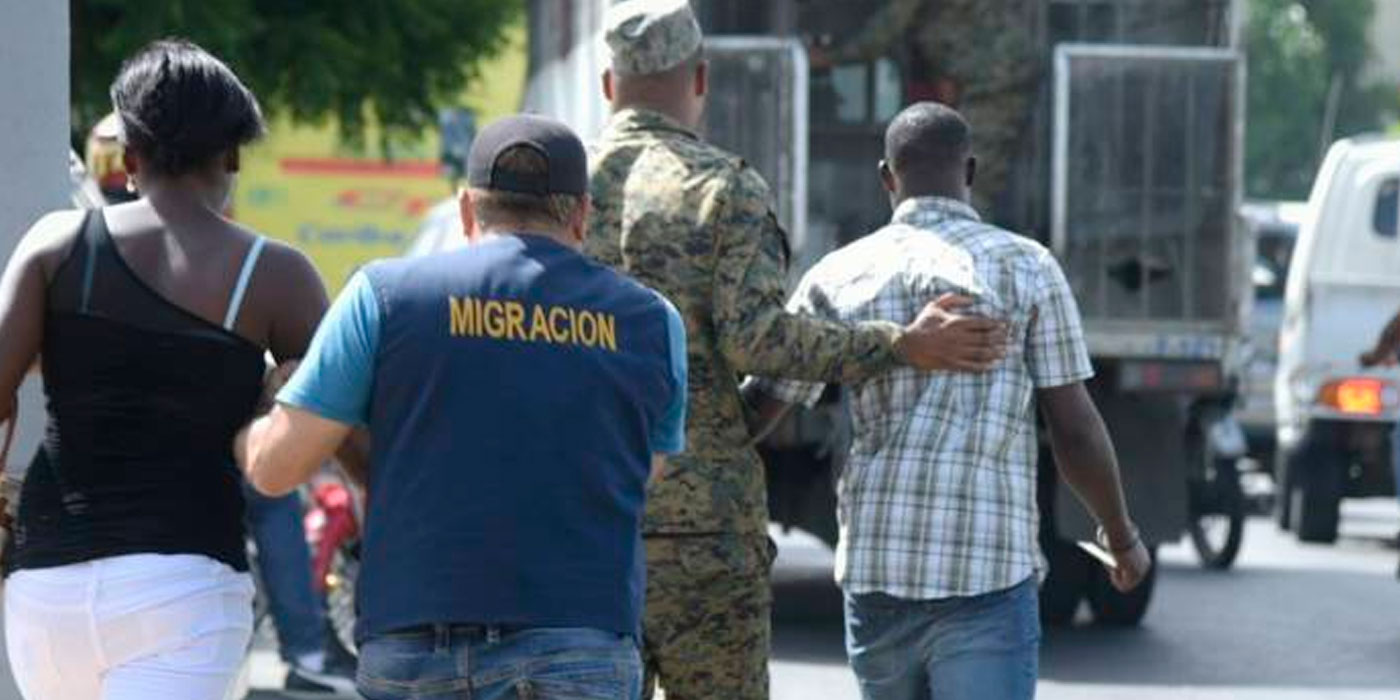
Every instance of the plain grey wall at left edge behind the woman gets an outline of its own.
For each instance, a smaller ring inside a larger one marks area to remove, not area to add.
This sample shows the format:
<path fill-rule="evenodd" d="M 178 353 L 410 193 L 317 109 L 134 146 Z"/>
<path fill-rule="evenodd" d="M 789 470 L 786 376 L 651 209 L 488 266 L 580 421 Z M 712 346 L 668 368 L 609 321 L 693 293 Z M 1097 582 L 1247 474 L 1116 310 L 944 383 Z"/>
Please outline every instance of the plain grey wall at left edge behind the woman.
<path fill-rule="evenodd" d="M 0 0 L 0 260 L 45 211 L 69 206 L 69 4 Z M 3 342 L 3 340 L 0 340 Z M 20 398 L 18 466 L 43 428 L 38 382 Z M 3 689 L 0 689 L 3 693 Z"/>

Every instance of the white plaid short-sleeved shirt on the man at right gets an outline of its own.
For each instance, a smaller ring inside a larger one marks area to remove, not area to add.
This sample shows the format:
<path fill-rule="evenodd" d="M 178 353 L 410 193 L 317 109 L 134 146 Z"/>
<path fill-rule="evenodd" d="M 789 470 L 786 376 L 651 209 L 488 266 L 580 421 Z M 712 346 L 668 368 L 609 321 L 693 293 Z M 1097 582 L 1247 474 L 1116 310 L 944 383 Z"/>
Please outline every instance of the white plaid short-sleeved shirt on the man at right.
<path fill-rule="evenodd" d="M 1004 319 L 1012 344 L 987 374 L 899 368 L 850 386 L 854 442 L 839 482 L 836 578 L 851 594 L 979 595 L 1042 571 L 1035 389 L 1092 377 L 1079 312 L 1054 258 L 948 199 L 904 202 L 890 225 L 827 255 L 790 309 L 911 321 L 959 293 Z M 766 381 L 812 405 L 820 384 Z"/>

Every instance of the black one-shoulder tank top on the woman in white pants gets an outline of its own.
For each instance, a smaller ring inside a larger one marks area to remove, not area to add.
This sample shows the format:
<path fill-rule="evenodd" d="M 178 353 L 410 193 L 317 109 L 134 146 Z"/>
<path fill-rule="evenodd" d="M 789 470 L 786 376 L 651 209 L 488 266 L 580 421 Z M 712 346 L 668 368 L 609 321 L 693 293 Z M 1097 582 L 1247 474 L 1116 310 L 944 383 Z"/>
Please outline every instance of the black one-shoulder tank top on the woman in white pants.
<path fill-rule="evenodd" d="M 256 249 L 245 270 L 253 262 Z M 46 300 L 49 423 L 24 482 L 11 567 L 160 553 L 246 571 L 231 444 L 262 392 L 263 350 L 143 283 L 98 211 Z"/>

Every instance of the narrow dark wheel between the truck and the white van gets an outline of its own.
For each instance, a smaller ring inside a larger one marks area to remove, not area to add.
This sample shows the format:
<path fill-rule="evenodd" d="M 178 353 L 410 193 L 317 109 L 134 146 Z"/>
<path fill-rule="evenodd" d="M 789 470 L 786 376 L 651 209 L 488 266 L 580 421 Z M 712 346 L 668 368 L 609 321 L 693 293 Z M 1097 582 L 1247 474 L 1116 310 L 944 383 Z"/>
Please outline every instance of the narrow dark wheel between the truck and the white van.
<path fill-rule="evenodd" d="M 1190 533 L 1205 568 L 1229 568 L 1245 539 L 1245 493 L 1231 459 L 1203 452 L 1203 476 L 1190 484 Z"/>

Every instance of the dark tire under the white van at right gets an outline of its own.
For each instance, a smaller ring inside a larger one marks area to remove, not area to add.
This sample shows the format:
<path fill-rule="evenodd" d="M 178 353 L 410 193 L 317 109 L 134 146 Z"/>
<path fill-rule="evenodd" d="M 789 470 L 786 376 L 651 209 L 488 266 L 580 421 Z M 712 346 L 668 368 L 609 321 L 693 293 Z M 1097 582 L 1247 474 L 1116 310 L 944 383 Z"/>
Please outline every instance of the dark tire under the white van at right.
<path fill-rule="evenodd" d="M 1288 461 L 1288 525 L 1299 542 L 1337 542 L 1347 454 L 1330 426 L 1315 423 Z"/>

